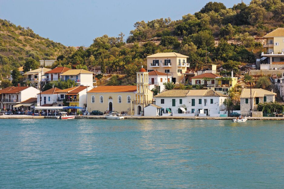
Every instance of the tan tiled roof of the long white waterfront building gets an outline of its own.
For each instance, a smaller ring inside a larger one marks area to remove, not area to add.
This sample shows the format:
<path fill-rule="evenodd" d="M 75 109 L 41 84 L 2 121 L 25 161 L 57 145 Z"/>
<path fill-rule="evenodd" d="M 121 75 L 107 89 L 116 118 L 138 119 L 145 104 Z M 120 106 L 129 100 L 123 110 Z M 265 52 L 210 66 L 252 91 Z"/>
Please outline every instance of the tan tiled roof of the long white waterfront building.
<path fill-rule="evenodd" d="M 168 90 L 160 93 L 154 97 L 185 97 L 185 96 L 225 96 L 222 93 L 215 92 L 214 90 L 199 89 L 199 90 Z"/>

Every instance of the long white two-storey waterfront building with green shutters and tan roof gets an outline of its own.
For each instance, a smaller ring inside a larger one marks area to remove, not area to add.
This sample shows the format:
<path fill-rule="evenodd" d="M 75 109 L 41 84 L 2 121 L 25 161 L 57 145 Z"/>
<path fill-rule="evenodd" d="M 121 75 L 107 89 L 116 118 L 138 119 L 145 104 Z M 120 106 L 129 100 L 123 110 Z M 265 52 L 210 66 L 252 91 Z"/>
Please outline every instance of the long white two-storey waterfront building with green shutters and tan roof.
<path fill-rule="evenodd" d="M 186 116 L 220 116 L 224 114 L 223 102 L 227 95 L 214 90 L 168 90 L 156 96 L 156 105 L 162 107 L 161 111 L 168 113 L 169 109 L 174 116 L 183 112 L 180 107 L 187 110 Z"/>

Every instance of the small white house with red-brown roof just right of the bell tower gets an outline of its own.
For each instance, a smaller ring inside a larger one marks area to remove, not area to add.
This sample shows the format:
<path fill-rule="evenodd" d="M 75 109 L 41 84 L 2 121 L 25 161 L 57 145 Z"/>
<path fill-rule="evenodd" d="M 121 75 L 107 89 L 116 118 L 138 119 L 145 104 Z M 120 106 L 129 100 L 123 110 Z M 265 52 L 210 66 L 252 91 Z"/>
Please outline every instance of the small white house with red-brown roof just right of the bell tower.
<path fill-rule="evenodd" d="M 158 88 L 159 93 L 165 90 L 165 86 L 163 83 L 171 82 L 172 75 L 159 72 L 157 70 L 149 72 L 149 89 L 152 90 L 154 88 Z"/>

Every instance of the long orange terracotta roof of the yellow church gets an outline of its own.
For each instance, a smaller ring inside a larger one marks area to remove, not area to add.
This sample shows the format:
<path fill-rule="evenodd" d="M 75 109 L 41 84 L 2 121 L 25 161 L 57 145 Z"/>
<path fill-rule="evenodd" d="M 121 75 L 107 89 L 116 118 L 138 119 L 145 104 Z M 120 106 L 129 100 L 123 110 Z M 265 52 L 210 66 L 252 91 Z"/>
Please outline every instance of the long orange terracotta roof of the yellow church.
<path fill-rule="evenodd" d="M 131 93 L 137 90 L 137 86 L 98 86 L 87 93 Z"/>

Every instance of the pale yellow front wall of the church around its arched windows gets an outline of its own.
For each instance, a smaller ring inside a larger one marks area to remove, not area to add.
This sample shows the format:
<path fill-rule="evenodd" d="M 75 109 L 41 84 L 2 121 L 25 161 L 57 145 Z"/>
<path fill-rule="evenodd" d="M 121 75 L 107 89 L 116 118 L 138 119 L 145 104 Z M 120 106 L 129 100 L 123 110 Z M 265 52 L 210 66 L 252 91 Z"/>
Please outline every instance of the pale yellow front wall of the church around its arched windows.
<path fill-rule="evenodd" d="M 95 97 L 95 102 L 92 103 L 92 96 Z M 103 103 L 100 102 L 100 96 L 103 96 Z M 130 114 L 132 100 L 135 100 L 135 94 L 130 93 L 87 93 L 87 108 L 91 112 L 99 110 L 101 112 L 107 111 L 109 108 L 109 97 L 112 97 L 112 107 L 114 111 L 122 112 L 127 111 Z M 121 96 L 121 103 L 118 103 L 118 96 Z M 127 103 L 127 96 L 130 96 L 130 103 Z M 132 106 L 134 108 L 134 106 Z"/>

